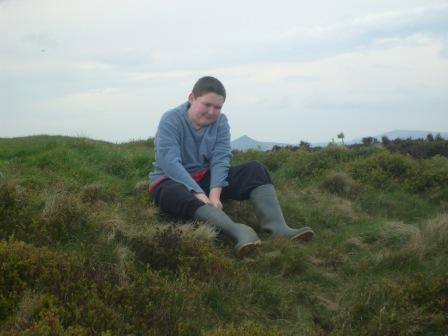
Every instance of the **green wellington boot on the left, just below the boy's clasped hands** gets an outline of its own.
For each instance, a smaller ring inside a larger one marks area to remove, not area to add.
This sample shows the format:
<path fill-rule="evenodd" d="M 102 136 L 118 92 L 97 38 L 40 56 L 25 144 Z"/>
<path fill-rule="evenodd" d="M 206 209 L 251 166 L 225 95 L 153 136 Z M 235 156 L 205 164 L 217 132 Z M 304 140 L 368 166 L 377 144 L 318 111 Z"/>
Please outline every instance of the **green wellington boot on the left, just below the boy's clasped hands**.
<path fill-rule="evenodd" d="M 196 210 L 195 218 L 206 221 L 220 232 L 236 240 L 235 254 L 237 257 L 243 257 L 261 245 L 260 238 L 250 226 L 233 222 L 224 211 L 210 204 Z"/>

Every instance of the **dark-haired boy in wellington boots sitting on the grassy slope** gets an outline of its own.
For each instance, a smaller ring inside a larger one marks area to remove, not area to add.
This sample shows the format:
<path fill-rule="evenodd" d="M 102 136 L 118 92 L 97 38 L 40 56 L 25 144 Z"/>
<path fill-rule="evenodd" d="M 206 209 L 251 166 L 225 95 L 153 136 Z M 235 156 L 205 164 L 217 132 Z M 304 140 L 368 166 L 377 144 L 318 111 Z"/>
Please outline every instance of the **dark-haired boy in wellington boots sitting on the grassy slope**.
<path fill-rule="evenodd" d="M 230 166 L 230 127 L 221 113 L 226 99 L 222 83 L 202 77 L 188 101 L 166 112 L 155 138 L 156 160 L 150 174 L 150 193 L 160 209 L 176 218 L 201 219 L 236 241 L 242 257 L 261 244 L 257 233 L 234 223 L 221 199 L 250 199 L 260 226 L 274 236 L 308 240 L 309 227 L 290 228 L 267 169 L 257 161 Z"/>

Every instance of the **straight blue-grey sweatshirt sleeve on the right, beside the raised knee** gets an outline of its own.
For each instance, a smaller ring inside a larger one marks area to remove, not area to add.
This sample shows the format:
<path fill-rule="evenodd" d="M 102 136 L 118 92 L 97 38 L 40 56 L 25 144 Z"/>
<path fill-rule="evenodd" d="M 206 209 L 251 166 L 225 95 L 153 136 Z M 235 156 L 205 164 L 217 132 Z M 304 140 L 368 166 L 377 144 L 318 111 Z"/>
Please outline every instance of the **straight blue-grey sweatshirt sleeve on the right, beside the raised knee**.
<path fill-rule="evenodd" d="M 216 144 L 210 160 L 210 189 L 227 187 L 227 176 L 232 152 L 230 148 L 230 126 L 227 117 L 222 114 L 219 120 Z"/>

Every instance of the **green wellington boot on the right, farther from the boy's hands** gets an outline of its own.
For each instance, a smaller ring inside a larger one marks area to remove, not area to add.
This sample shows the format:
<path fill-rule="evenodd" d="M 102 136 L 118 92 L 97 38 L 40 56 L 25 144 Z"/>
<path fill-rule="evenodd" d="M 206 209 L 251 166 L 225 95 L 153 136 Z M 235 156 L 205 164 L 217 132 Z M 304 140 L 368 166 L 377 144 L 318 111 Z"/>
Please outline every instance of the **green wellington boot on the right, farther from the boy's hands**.
<path fill-rule="evenodd" d="M 314 232 L 308 226 L 293 229 L 286 224 L 272 184 L 264 184 L 252 190 L 250 200 L 255 207 L 263 231 L 271 233 L 274 237 L 285 236 L 296 241 L 307 241 L 313 238 Z"/>

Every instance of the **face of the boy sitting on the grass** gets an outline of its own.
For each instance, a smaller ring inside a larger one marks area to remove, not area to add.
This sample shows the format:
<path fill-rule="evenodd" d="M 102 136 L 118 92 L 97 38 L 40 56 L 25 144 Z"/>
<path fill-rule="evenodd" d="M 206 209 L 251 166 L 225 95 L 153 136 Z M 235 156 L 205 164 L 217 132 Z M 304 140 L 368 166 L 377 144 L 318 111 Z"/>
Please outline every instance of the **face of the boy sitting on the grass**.
<path fill-rule="evenodd" d="M 196 129 L 208 126 L 214 123 L 221 113 L 224 105 L 224 97 L 216 93 L 209 92 L 203 96 L 195 97 L 193 93 L 188 96 L 190 108 L 188 117 Z"/>

